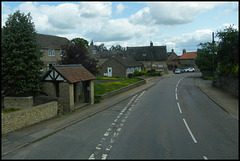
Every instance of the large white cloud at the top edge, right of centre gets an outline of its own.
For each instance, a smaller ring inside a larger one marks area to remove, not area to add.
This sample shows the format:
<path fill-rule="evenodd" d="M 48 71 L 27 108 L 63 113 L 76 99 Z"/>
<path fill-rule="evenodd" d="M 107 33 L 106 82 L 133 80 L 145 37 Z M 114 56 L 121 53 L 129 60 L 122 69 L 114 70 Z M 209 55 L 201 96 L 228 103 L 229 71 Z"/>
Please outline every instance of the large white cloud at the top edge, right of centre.
<path fill-rule="evenodd" d="M 157 2 L 149 3 L 130 17 L 134 24 L 180 25 L 192 22 L 197 15 L 214 8 L 212 2 Z"/>

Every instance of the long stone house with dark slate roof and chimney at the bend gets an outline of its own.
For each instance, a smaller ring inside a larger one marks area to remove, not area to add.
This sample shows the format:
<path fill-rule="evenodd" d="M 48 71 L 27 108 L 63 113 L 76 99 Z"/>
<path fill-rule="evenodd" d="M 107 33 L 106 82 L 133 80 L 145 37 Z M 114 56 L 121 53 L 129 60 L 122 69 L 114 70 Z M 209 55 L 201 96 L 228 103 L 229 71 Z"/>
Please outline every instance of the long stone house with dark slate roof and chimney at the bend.
<path fill-rule="evenodd" d="M 124 56 L 143 63 L 147 70 L 154 68 L 156 71 L 163 71 L 167 67 L 166 46 L 153 46 L 152 42 L 150 46 L 127 47 Z"/>

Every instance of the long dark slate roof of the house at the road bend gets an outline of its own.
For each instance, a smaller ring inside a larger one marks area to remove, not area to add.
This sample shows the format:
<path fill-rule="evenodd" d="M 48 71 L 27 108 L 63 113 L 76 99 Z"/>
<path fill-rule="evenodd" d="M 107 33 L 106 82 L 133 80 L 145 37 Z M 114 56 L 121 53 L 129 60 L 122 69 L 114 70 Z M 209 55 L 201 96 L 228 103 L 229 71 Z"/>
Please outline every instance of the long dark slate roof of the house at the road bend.
<path fill-rule="evenodd" d="M 136 61 L 166 61 L 168 58 L 166 46 L 127 47 L 124 54 Z"/>

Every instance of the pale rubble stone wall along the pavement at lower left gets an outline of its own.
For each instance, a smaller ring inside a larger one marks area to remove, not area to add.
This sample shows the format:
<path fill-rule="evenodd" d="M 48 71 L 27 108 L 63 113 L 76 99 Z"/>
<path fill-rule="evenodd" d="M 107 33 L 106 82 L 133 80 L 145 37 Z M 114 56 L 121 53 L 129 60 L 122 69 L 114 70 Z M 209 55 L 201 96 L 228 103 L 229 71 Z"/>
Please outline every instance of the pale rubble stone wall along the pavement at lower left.
<path fill-rule="evenodd" d="M 57 101 L 52 101 L 11 113 L 2 113 L 2 134 L 55 117 L 57 115 L 57 111 L 58 103 Z"/>

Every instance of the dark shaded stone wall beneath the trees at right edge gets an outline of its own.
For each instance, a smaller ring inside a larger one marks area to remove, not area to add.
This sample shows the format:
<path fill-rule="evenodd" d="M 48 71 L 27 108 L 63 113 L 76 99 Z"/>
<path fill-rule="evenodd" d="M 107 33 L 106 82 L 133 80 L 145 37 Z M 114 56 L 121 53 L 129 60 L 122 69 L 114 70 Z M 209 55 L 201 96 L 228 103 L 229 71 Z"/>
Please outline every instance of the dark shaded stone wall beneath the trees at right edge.
<path fill-rule="evenodd" d="M 217 76 L 216 87 L 221 88 L 235 97 L 239 97 L 239 81 L 238 78 L 233 76 Z"/>

